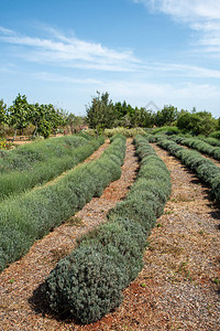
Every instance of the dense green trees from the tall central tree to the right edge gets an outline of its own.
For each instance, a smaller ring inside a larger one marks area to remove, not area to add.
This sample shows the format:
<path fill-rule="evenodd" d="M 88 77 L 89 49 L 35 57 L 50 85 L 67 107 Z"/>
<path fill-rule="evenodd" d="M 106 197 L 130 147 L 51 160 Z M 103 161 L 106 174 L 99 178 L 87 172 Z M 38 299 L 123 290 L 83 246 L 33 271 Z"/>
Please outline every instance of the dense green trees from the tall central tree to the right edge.
<path fill-rule="evenodd" d="M 157 111 L 144 107 L 133 108 L 127 102 L 113 104 L 108 92 L 102 94 L 97 92 L 97 96 L 92 97 L 86 110 L 89 127 L 98 132 L 118 126 L 127 128 L 177 126 L 180 130 L 191 131 L 195 135 L 209 135 L 220 130 L 220 118 L 215 119 L 209 111 L 196 111 L 196 108 L 191 111 L 177 110 L 172 105 L 164 106 Z"/>

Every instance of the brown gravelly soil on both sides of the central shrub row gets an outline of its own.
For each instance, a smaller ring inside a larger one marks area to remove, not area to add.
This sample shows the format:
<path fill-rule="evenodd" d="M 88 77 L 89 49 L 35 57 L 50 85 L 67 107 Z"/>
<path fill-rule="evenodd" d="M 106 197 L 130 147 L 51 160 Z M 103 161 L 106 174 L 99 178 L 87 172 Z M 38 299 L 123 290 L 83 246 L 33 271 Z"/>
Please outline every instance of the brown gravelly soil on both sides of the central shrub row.
<path fill-rule="evenodd" d="M 45 310 L 38 288 L 75 239 L 122 199 L 138 169 L 131 141 L 119 181 L 0 275 L 3 330 L 220 330 L 220 212 L 210 190 L 177 159 L 153 145 L 170 170 L 173 192 L 148 237 L 144 268 L 124 290 L 123 303 L 100 321 L 77 325 Z M 70 224 L 78 222 L 77 225 Z"/>

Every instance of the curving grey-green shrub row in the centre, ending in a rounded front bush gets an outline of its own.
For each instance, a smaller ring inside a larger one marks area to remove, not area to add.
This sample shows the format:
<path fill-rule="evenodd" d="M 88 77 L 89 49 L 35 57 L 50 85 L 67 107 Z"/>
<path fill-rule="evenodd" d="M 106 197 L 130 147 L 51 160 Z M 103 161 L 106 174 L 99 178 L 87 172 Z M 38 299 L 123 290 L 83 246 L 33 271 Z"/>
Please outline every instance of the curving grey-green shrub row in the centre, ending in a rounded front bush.
<path fill-rule="evenodd" d="M 51 308 L 91 323 L 122 301 L 122 290 L 143 267 L 146 236 L 170 193 L 169 172 L 142 136 L 135 138 L 141 169 L 127 199 L 109 222 L 82 236 L 45 281 Z"/>

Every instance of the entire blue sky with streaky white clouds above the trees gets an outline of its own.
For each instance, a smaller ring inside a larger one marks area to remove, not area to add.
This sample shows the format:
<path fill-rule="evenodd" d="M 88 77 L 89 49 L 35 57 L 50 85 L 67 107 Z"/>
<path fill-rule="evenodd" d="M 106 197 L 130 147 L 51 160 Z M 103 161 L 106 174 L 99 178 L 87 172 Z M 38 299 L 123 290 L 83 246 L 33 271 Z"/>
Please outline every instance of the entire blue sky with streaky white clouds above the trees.
<path fill-rule="evenodd" d="M 0 98 L 86 115 L 96 92 L 220 116 L 220 0 L 8 0 Z"/>

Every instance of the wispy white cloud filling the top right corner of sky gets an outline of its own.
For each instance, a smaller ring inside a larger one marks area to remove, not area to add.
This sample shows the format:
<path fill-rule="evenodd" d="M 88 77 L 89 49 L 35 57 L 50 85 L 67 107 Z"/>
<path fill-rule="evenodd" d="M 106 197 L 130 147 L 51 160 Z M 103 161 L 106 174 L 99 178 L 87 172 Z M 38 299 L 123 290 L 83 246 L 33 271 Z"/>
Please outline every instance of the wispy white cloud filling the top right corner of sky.
<path fill-rule="evenodd" d="M 219 53 L 220 47 L 220 1 L 219 0 L 134 0 L 153 11 L 170 15 L 184 22 L 199 34 L 198 43 L 208 52 Z M 209 46 L 215 46 L 209 49 Z"/>

